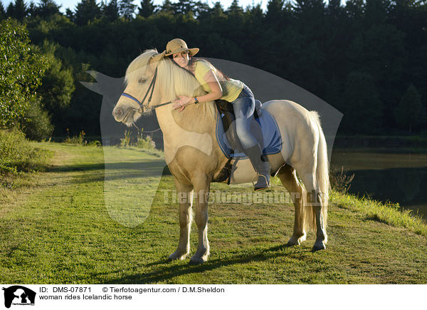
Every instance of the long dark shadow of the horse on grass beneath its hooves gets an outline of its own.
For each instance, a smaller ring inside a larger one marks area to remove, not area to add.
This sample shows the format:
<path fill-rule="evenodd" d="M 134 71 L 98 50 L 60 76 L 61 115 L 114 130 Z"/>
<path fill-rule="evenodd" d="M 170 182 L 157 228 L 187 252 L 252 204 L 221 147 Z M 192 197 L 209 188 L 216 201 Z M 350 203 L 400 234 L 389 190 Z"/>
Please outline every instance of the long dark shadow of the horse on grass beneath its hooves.
<path fill-rule="evenodd" d="M 285 249 L 292 249 L 290 252 L 283 252 Z M 196 274 L 206 272 L 209 270 L 226 267 L 233 264 L 245 264 L 248 262 L 263 262 L 275 257 L 283 257 L 295 254 L 295 247 L 288 247 L 286 244 L 270 247 L 267 249 L 260 249 L 253 254 L 238 254 L 230 258 L 209 259 L 208 262 L 199 265 L 189 264 L 189 259 L 177 262 L 167 262 L 167 258 L 161 259 L 157 262 L 146 264 L 147 267 L 156 267 L 154 272 L 147 272 L 144 274 L 132 274 L 127 277 L 108 281 L 110 284 L 152 284 L 159 281 L 169 281 L 175 277 L 180 277 L 186 274 Z M 299 247 L 301 249 L 301 247 Z M 305 249 L 302 249 L 305 251 Z"/>

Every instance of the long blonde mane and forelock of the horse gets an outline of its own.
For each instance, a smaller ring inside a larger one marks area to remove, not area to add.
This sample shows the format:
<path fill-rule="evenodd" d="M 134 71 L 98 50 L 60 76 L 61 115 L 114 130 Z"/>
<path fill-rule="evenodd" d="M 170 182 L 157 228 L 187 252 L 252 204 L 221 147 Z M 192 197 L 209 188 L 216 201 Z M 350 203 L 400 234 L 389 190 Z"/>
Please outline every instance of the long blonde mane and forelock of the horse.
<path fill-rule="evenodd" d="M 127 67 L 125 83 L 127 85 L 139 83 L 140 79 L 146 80 L 146 85 L 152 80 L 152 70 L 148 70 L 150 58 L 159 55 L 157 50 L 149 49 L 135 58 Z M 147 88 L 143 88 L 139 98 L 144 96 Z M 168 102 L 178 98 L 178 95 L 188 95 L 190 97 L 206 94 L 201 88 L 200 83 L 188 71 L 176 66 L 170 58 L 162 58 L 157 65 L 157 81 L 154 88 L 154 93 L 157 93 L 157 101 L 154 100 L 151 106 Z M 154 95 L 153 95 L 154 96 Z M 183 118 L 189 120 L 189 117 L 197 117 L 204 122 L 216 120 L 216 107 L 214 102 L 206 102 L 198 105 L 187 106 L 183 113 Z M 195 114 L 195 115 L 190 115 Z"/>

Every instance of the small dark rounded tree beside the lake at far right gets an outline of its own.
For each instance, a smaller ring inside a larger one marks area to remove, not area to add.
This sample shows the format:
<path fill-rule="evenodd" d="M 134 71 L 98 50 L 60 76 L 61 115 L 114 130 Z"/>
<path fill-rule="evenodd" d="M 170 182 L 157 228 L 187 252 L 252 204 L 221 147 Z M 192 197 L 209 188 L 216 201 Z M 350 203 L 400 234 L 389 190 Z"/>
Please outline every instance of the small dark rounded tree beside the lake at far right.
<path fill-rule="evenodd" d="M 424 111 L 421 95 L 411 84 L 394 109 L 396 123 L 400 128 L 408 129 L 409 133 L 423 123 Z"/>

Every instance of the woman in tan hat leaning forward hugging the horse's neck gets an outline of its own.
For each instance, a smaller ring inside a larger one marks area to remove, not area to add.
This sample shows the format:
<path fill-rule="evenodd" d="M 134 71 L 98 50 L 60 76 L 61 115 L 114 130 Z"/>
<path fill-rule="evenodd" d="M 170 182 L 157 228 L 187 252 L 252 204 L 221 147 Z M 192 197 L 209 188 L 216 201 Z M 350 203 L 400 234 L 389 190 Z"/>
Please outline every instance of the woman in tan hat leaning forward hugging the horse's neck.
<path fill-rule="evenodd" d="M 206 95 L 194 98 L 179 95 L 179 99 L 174 100 L 174 108 L 182 111 L 187 105 L 218 99 L 230 102 L 236 115 L 236 131 L 243 146 L 243 152 L 248 155 L 258 173 L 255 190 L 268 188 L 270 186 L 270 164 L 262 155 L 260 145 L 250 131 L 255 109 L 255 99 L 251 89 L 241 81 L 224 76 L 209 61 L 194 58 L 193 56 L 197 52 L 199 52 L 199 48 L 188 48 L 185 41 L 180 38 L 174 38 L 167 43 L 165 56 L 169 56 L 174 63 L 193 74 L 206 91 Z"/>

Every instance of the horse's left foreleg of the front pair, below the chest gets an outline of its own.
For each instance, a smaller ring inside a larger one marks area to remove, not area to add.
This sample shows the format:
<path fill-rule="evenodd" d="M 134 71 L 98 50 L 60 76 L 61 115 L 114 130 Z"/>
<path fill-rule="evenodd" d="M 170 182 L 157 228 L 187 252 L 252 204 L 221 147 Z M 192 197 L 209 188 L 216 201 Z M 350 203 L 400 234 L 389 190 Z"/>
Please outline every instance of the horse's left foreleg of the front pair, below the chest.
<path fill-rule="evenodd" d="M 190 252 L 191 228 L 191 202 L 193 200 L 193 187 L 181 184 L 175 180 L 177 199 L 179 200 L 179 244 L 174 253 L 169 256 L 169 261 L 185 259 Z"/>

